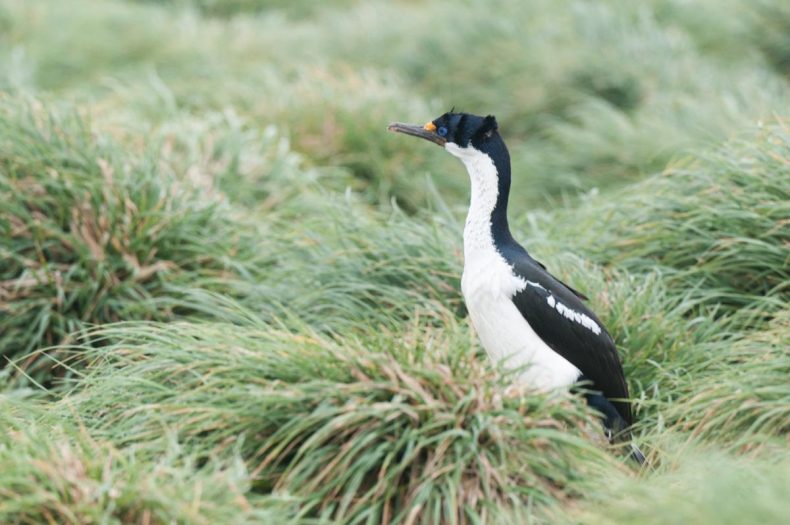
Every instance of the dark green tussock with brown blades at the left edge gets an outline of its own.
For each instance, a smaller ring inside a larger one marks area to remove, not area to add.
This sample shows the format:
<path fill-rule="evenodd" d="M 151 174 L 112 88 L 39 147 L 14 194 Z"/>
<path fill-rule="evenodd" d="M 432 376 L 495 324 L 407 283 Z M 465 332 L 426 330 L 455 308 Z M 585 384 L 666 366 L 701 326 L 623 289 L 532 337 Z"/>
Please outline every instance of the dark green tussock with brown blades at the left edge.
<path fill-rule="evenodd" d="M 180 184 L 154 158 L 97 139 L 83 119 L 5 101 L 0 145 L 5 359 L 88 324 L 170 317 L 155 300 L 169 284 L 243 268 L 243 230 L 221 202 Z M 35 354 L 23 366 L 34 362 Z"/>

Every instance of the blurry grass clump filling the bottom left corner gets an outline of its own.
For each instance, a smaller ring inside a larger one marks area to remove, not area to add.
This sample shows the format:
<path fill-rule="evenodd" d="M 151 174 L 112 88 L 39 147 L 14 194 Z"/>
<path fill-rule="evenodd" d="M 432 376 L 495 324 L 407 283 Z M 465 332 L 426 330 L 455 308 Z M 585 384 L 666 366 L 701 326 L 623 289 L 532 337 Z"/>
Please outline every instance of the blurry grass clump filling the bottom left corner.
<path fill-rule="evenodd" d="M 32 402 L 0 398 L 0 521 L 260 523 L 283 519 L 280 502 L 254 507 L 240 462 L 198 467 L 176 446 L 154 461 L 93 439 Z M 268 508 L 267 508 L 268 507 Z M 278 515 L 279 512 L 279 515 Z"/>

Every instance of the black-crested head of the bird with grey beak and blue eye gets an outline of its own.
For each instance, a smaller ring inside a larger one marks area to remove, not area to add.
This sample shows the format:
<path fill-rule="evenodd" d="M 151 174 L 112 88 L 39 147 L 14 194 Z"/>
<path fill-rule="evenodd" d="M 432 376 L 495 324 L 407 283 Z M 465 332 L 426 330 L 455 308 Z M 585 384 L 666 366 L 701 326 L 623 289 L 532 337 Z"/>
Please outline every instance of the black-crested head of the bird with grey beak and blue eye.
<path fill-rule="evenodd" d="M 494 143 L 501 143 L 492 115 L 449 112 L 424 126 L 394 122 L 387 129 L 429 140 L 460 158 L 472 151 L 486 152 Z"/>

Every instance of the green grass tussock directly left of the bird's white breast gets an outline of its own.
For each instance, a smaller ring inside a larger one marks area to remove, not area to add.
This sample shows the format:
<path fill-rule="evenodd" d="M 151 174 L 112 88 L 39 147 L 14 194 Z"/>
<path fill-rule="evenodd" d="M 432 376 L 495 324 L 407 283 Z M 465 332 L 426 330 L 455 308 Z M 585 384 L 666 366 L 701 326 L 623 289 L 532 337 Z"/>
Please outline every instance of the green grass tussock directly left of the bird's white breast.
<path fill-rule="evenodd" d="M 274 317 L 285 308 L 331 331 L 397 326 L 415 312 L 441 324 L 448 310 L 464 311 L 456 227 L 371 213 L 352 197 L 322 200 L 271 227 L 260 247 L 267 271 L 244 285 L 244 304 Z"/>

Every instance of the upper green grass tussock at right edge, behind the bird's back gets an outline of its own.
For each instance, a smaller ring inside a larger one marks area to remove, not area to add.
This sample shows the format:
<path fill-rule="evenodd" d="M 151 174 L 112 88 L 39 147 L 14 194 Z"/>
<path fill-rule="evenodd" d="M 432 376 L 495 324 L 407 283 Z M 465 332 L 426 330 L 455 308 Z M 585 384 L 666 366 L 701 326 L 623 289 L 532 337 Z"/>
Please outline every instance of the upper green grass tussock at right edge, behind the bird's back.
<path fill-rule="evenodd" d="M 571 242 L 606 264 L 661 268 L 708 306 L 775 311 L 790 292 L 789 156 L 790 132 L 766 127 L 592 200 Z"/>

